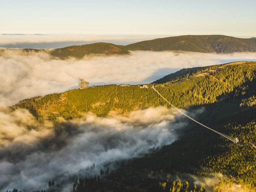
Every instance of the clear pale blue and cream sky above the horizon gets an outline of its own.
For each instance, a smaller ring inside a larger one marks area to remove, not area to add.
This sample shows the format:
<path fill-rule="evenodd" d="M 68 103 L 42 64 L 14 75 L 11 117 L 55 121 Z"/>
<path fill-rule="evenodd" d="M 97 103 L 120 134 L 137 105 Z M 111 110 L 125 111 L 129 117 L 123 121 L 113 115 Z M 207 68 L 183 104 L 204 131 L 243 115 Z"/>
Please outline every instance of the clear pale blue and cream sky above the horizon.
<path fill-rule="evenodd" d="M 256 36 L 256 0 L 0 1 L 0 33 Z"/>

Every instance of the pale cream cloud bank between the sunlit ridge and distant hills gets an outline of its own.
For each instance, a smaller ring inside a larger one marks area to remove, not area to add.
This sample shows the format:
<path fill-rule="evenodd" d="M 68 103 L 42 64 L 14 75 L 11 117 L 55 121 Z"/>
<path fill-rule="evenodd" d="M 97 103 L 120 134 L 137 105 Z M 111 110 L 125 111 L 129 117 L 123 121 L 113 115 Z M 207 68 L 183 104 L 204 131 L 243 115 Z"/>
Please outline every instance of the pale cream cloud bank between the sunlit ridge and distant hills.
<path fill-rule="evenodd" d="M 90 85 L 144 84 L 181 68 L 256 60 L 256 53 L 208 54 L 131 52 L 130 55 L 57 60 L 46 53 L 6 50 L 0 57 L 0 106 L 21 99 L 64 92 L 78 87 L 80 78 Z"/>

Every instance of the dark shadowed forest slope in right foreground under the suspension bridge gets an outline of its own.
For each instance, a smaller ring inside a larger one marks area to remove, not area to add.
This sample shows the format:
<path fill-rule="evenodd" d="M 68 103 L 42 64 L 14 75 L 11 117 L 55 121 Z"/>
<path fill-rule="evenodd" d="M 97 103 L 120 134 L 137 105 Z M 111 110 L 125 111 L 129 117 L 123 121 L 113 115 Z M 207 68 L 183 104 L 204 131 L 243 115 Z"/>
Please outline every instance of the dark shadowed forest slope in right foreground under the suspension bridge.
<path fill-rule="evenodd" d="M 176 142 L 124 161 L 105 177 L 79 178 L 73 191 L 255 192 L 256 149 L 247 143 L 256 143 L 256 106 L 240 107 L 240 103 L 254 98 L 256 80 L 242 86 L 240 92 L 234 89 L 222 99 L 204 104 L 204 112 L 197 116 L 211 128 L 238 137 L 240 144 L 190 121 Z"/>

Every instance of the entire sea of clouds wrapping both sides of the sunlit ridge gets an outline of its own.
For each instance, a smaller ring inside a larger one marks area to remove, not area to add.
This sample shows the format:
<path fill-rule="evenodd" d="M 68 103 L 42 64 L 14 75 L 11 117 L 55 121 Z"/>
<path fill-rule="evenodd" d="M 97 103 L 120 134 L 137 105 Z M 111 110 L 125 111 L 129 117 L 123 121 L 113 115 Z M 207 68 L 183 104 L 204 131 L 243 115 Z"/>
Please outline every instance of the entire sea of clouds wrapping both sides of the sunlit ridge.
<path fill-rule="evenodd" d="M 107 117 L 85 113 L 59 125 L 39 123 L 25 109 L 10 110 L 23 98 L 90 85 L 144 84 L 181 68 L 256 60 L 256 53 L 131 52 L 129 55 L 59 60 L 47 53 L 4 50 L 0 56 L 0 191 L 47 189 L 47 181 L 95 164 L 133 158 L 169 144 L 188 124 L 176 111 L 148 108 Z M 196 117 L 202 110 L 188 113 Z M 56 127 L 57 126 L 57 127 Z M 113 167 L 114 168 L 114 167 Z"/>

